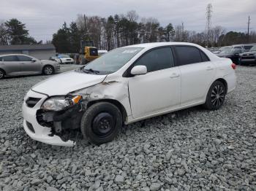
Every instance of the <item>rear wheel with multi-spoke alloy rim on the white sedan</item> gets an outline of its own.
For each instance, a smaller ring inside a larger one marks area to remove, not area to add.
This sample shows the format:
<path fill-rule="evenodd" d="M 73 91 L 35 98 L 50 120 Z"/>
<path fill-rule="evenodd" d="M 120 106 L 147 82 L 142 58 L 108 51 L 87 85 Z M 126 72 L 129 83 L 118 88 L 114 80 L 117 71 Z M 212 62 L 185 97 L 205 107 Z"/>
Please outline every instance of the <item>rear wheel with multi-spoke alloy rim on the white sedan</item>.
<path fill-rule="evenodd" d="M 219 109 L 225 101 L 226 87 L 220 81 L 215 81 L 206 96 L 206 103 L 203 106 L 206 109 L 216 110 Z"/>

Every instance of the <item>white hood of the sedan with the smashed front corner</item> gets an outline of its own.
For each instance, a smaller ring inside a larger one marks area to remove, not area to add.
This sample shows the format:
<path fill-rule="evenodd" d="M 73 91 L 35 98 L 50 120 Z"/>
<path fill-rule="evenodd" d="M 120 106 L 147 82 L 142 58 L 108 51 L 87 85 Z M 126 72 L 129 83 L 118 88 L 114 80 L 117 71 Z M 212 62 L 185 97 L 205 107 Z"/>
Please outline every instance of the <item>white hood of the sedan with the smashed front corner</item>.
<path fill-rule="evenodd" d="M 49 96 L 67 95 L 72 91 L 96 85 L 99 82 L 102 82 L 105 77 L 106 75 L 86 74 L 80 71 L 67 71 L 39 82 L 37 85 L 34 85 L 31 90 Z"/>

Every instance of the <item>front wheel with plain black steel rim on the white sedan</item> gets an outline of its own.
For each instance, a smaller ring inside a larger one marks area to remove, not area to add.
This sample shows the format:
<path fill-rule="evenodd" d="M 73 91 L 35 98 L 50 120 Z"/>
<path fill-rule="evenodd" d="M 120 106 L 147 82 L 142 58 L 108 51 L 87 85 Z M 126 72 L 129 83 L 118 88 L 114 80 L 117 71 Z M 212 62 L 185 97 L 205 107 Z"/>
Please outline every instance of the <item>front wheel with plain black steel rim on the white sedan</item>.
<path fill-rule="evenodd" d="M 118 135 L 121 126 L 121 112 L 108 102 L 93 104 L 81 119 L 83 137 L 97 145 L 112 141 Z"/>

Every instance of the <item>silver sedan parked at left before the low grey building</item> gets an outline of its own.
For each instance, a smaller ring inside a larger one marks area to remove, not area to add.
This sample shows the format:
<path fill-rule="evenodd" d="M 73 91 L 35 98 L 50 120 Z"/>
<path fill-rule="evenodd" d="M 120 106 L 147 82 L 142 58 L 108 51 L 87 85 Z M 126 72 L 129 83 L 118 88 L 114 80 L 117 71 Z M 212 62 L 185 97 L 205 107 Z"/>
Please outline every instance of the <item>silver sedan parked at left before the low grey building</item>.
<path fill-rule="evenodd" d="M 30 55 L 0 55 L 0 79 L 6 76 L 29 74 L 50 75 L 60 70 L 56 61 L 39 60 Z"/>

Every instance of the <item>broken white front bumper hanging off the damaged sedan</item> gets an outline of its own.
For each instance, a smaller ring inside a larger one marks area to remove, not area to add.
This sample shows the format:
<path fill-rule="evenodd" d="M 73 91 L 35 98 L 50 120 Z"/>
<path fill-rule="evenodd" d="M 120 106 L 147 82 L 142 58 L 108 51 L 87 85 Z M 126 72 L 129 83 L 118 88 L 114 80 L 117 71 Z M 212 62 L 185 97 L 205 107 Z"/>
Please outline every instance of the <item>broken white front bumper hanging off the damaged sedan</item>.
<path fill-rule="evenodd" d="M 40 98 L 40 100 L 35 106 L 29 107 L 26 105 L 26 100 L 28 98 Z M 39 125 L 39 123 L 37 122 L 37 110 L 40 109 L 40 106 L 46 98 L 48 98 L 47 95 L 35 93 L 32 90 L 29 90 L 29 93 L 26 94 L 22 105 L 24 130 L 31 137 L 31 139 L 34 139 L 36 141 L 56 146 L 75 146 L 75 141 L 62 141 L 59 136 L 52 135 L 51 128 Z"/>

